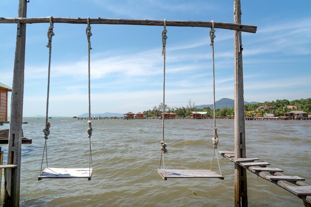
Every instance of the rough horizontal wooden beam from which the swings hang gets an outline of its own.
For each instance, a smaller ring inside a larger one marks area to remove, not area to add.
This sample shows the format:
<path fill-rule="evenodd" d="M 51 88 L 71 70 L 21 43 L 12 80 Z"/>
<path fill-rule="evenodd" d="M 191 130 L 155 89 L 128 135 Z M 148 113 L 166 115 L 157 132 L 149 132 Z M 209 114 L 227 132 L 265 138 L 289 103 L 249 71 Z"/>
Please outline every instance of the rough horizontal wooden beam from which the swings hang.
<path fill-rule="evenodd" d="M 4 18 L 0 17 L 0 23 L 49 23 L 50 17 L 36 18 Z M 54 23 L 69 23 L 69 24 L 87 24 L 87 18 L 63 18 L 53 17 Z M 90 24 L 123 24 L 123 25 L 148 25 L 148 26 L 163 26 L 163 20 L 149 19 L 104 19 L 90 18 Z M 212 27 L 212 23 L 208 21 L 172 21 L 167 20 L 166 26 L 172 27 Z M 243 24 L 214 22 L 214 28 L 237 30 L 242 32 L 256 33 L 257 27 Z"/>

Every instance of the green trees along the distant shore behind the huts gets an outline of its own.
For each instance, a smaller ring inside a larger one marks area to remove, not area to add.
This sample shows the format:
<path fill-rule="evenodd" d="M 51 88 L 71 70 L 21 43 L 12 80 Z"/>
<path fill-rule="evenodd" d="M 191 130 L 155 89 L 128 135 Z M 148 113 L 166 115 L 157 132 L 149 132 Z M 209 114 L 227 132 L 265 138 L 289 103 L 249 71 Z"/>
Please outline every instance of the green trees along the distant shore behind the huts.
<path fill-rule="evenodd" d="M 170 107 L 165 104 L 165 112 L 173 112 L 176 114 L 176 117 L 189 117 L 191 114 L 191 111 L 203 111 L 207 112 L 206 116 L 213 116 L 213 108 L 210 107 L 203 107 L 203 108 L 196 108 L 194 107 L 194 103 L 191 101 L 191 99 L 188 100 L 188 103 L 186 106 L 180 106 L 180 107 Z M 295 106 L 295 109 L 291 109 L 288 106 Z M 244 110 L 246 111 L 252 111 L 254 113 L 267 113 L 271 112 L 269 109 L 264 108 L 260 109 L 259 106 L 273 106 L 273 113 L 275 116 L 283 116 L 284 113 L 289 112 L 290 110 L 302 110 L 307 113 L 311 113 L 311 98 L 308 99 L 299 99 L 299 100 L 276 100 L 272 102 L 263 102 L 263 103 L 257 103 L 257 104 L 245 104 Z M 160 103 L 159 105 L 155 105 L 153 109 L 149 109 L 144 111 L 145 117 L 157 117 L 158 114 L 162 112 L 163 104 Z M 233 117 L 234 116 L 234 107 L 224 107 L 224 108 L 218 108 L 216 109 L 216 116 L 227 116 L 227 117 Z"/>

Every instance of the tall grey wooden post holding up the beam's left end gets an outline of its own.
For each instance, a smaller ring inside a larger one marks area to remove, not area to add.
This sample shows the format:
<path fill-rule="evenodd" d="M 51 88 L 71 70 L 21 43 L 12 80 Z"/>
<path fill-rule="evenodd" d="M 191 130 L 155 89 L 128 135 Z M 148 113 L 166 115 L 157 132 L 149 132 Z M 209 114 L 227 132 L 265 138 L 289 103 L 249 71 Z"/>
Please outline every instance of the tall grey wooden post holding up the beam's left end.
<path fill-rule="evenodd" d="M 19 0 L 18 17 L 26 17 L 27 1 Z M 4 170 L 4 207 L 19 206 L 21 137 L 24 96 L 26 24 L 17 23 L 13 87 L 11 98 L 10 133 L 7 150 L 7 164 L 16 164 L 14 168 Z"/>

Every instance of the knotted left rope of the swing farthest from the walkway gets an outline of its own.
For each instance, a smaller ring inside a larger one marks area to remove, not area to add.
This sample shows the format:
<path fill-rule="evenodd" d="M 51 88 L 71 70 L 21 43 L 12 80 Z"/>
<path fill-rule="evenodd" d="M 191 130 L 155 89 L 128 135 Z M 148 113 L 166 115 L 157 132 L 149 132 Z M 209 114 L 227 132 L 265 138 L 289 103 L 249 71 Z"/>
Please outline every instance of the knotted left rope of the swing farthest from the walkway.
<path fill-rule="evenodd" d="M 52 18 L 53 18 L 53 16 L 50 16 L 50 27 L 49 27 L 48 33 L 47 33 L 48 44 L 46 45 L 46 47 L 49 49 L 49 66 L 48 66 L 48 86 L 47 86 L 46 113 L 45 113 L 45 129 L 42 130 L 44 133 L 45 144 L 44 144 L 42 161 L 41 161 L 40 175 L 42 172 L 44 154 L 46 155 L 46 166 L 48 167 L 47 140 L 49 139 L 50 127 L 51 127 L 51 123 L 48 122 L 48 118 L 49 118 L 49 95 L 50 95 L 50 74 L 51 74 L 51 54 L 52 54 L 52 38 L 55 35 L 53 32 L 54 23 L 52 21 Z"/>

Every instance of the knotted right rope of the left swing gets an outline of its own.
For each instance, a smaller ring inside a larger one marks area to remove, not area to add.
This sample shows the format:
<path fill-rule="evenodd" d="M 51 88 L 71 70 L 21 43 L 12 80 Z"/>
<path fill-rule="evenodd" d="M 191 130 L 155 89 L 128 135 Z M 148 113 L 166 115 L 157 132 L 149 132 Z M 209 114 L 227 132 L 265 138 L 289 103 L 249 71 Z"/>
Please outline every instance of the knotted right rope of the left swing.
<path fill-rule="evenodd" d="M 91 122 L 91 87 L 90 87 L 90 51 L 92 50 L 91 48 L 91 41 L 90 37 L 93 35 L 91 33 L 91 26 L 89 23 L 89 17 L 87 17 L 87 27 L 85 30 L 86 37 L 87 37 L 87 43 L 88 43 L 88 129 L 87 129 L 87 138 L 89 138 L 89 176 L 90 176 L 90 169 L 93 167 L 93 162 L 92 162 L 92 149 L 91 149 L 91 136 L 92 136 L 92 122 Z"/>

